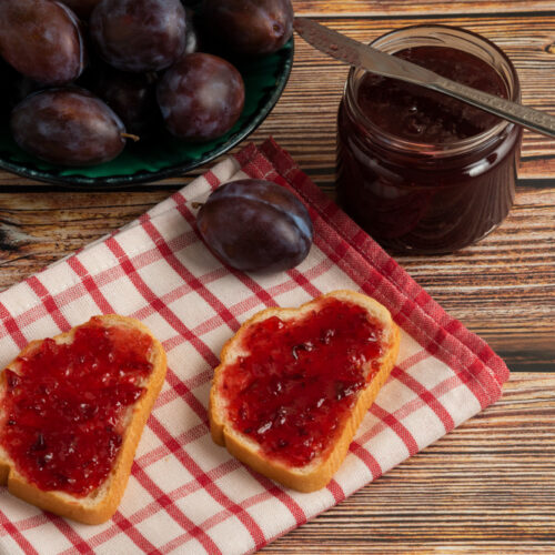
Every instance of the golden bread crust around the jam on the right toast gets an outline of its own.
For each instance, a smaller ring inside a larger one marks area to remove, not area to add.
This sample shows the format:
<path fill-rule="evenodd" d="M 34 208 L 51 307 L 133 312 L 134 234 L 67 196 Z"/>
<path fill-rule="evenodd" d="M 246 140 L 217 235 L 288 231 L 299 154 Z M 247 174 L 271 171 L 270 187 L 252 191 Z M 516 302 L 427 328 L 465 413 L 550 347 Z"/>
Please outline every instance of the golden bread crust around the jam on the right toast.
<path fill-rule="evenodd" d="M 366 309 L 370 315 L 376 317 L 384 325 L 384 354 L 380 369 L 369 384 L 357 393 L 357 400 L 351 410 L 349 418 L 326 453 L 302 467 L 290 467 L 283 462 L 272 460 L 264 455 L 256 442 L 241 432 L 234 430 L 225 417 L 224 401 L 219 395 L 220 384 L 224 370 L 232 363 L 242 343 L 243 335 L 252 324 L 278 315 L 282 320 L 294 319 L 304 312 L 317 306 L 324 299 L 334 297 L 351 302 Z M 395 364 L 398 345 L 400 330 L 391 319 L 390 312 L 377 301 L 361 293 L 349 290 L 339 290 L 310 301 L 297 309 L 266 309 L 248 320 L 222 349 L 221 363 L 214 370 L 214 377 L 210 391 L 209 420 L 212 438 L 219 445 L 265 476 L 300 492 L 313 492 L 324 487 L 333 477 L 345 458 L 349 446 L 359 428 L 364 415 L 374 402 L 380 389 L 387 380 Z"/>

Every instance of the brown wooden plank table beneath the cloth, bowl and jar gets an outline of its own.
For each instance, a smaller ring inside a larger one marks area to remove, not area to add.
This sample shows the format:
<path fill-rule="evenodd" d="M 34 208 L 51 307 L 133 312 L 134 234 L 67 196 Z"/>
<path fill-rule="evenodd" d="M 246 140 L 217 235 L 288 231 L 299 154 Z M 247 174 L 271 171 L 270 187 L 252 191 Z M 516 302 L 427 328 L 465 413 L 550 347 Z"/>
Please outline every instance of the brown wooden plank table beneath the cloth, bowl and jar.
<path fill-rule="evenodd" d="M 555 113 L 554 0 L 294 0 L 370 41 L 413 23 L 477 31 L 513 59 L 524 103 Z M 347 68 L 296 40 L 272 134 L 333 194 L 335 114 Z M 121 226 L 194 174 L 113 192 L 70 191 L 0 172 L 0 287 Z M 516 203 L 480 244 L 398 258 L 502 355 L 504 397 L 266 553 L 555 552 L 555 141 L 526 132 Z"/>

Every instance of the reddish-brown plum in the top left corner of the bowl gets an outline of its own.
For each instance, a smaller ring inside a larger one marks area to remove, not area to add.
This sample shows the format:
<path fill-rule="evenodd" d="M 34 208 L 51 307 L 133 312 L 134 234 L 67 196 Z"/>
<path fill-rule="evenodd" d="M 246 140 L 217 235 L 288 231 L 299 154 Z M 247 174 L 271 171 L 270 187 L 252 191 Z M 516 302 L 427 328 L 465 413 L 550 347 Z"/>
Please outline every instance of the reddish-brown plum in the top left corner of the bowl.
<path fill-rule="evenodd" d="M 50 0 L 0 1 L 0 54 L 20 73 L 44 84 L 75 80 L 87 59 L 75 14 Z"/>

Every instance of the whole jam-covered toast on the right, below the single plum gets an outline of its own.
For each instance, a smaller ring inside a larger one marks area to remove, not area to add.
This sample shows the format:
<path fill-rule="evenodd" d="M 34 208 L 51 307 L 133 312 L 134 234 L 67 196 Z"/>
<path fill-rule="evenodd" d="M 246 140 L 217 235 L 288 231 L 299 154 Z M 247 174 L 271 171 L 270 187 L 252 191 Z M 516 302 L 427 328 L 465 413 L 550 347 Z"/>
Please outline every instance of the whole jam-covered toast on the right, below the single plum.
<path fill-rule="evenodd" d="M 390 312 L 354 291 L 255 314 L 224 345 L 215 369 L 212 438 L 287 487 L 324 487 L 390 375 L 398 344 Z"/>

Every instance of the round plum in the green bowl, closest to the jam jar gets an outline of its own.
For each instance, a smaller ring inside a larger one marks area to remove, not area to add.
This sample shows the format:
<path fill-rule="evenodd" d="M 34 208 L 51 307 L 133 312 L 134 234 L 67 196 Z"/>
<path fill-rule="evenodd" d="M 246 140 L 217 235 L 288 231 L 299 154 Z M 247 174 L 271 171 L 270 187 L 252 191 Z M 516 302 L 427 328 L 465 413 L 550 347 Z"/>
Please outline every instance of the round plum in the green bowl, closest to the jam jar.
<path fill-rule="evenodd" d="M 244 105 L 241 73 L 228 61 L 194 52 L 170 68 L 157 88 L 168 130 L 191 142 L 226 133 Z"/>

